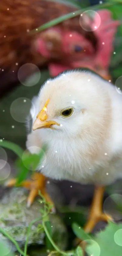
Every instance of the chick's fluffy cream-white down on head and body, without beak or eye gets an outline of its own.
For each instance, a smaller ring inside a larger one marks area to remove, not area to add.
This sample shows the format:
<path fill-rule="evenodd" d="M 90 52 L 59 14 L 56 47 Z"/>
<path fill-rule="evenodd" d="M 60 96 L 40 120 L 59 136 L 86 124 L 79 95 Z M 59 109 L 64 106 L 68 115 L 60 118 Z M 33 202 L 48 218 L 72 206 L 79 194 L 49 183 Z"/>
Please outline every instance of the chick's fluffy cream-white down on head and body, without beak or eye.
<path fill-rule="evenodd" d="M 68 71 L 45 82 L 33 100 L 33 121 L 48 99 L 48 121 L 60 126 L 31 129 L 26 143 L 31 153 L 48 145 L 39 170 L 50 178 L 97 186 L 121 178 L 122 96 L 114 85 L 89 71 Z M 73 114 L 62 117 L 70 108 Z"/>

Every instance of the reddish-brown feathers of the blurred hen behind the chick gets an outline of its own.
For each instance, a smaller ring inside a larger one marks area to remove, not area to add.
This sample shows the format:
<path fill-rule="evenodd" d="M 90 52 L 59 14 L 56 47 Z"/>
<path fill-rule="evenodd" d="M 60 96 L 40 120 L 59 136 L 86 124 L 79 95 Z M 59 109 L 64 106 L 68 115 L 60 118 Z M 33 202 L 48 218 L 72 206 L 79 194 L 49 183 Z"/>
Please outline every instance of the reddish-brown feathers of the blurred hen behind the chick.
<path fill-rule="evenodd" d="M 41 34 L 30 31 L 42 24 L 75 11 L 76 9 L 46 0 L 4 0 L 0 6 L 0 67 L 16 67 L 23 63 L 42 65 L 46 59 L 36 52 L 34 41 Z M 75 30 L 90 38 L 95 45 L 93 33 L 83 31 L 79 17 L 60 24 L 65 30 Z"/>

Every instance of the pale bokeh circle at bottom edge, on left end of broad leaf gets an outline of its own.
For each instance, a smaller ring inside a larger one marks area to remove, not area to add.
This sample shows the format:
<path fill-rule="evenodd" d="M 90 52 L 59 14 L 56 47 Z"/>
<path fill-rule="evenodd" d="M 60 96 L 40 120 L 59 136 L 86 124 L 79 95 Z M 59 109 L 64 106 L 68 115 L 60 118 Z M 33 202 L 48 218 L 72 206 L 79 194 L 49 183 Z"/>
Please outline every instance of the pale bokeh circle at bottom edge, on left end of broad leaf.
<path fill-rule="evenodd" d="M 101 249 L 99 244 L 94 240 L 84 240 L 85 243 L 87 243 L 85 251 L 88 255 L 92 256 L 100 256 Z"/>

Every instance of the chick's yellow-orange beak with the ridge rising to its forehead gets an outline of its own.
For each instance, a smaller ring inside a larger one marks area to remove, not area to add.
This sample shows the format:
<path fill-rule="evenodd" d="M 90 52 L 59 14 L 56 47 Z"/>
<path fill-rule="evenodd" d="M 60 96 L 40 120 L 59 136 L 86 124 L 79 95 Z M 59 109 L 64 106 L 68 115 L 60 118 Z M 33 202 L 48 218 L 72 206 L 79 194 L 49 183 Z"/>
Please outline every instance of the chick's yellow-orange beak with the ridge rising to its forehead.
<path fill-rule="evenodd" d="M 51 128 L 54 129 L 52 126 L 54 124 L 60 125 L 55 121 L 48 121 L 48 113 L 47 113 L 47 105 L 48 105 L 49 100 L 46 102 L 45 106 L 43 109 L 38 113 L 36 120 L 33 124 L 33 131 L 41 128 Z"/>

